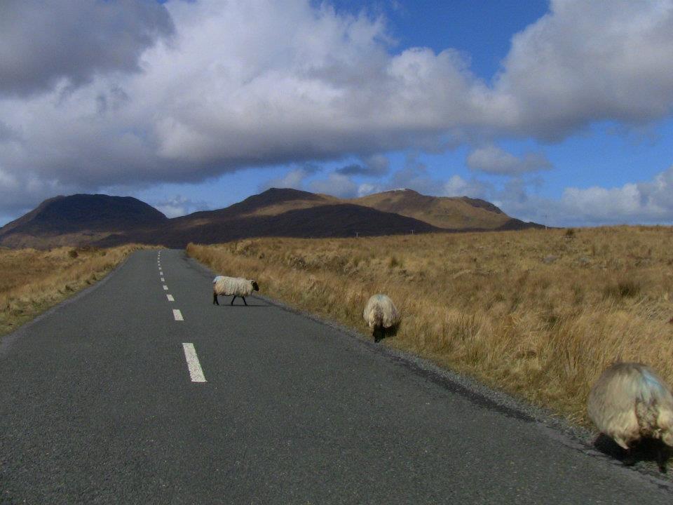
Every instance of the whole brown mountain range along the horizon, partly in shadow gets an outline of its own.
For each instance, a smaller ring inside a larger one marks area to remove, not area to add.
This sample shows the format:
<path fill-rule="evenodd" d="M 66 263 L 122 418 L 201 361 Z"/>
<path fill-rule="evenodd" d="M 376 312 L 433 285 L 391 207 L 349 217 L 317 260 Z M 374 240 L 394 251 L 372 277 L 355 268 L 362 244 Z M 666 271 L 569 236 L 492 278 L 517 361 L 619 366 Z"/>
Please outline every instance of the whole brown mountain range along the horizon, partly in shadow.
<path fill-rule="evenodd" d="M 147 203 L 106 195 L 58 196 L 0 228 L 0 245 L 53 247 L 139 242 L 184 247 L 251 236 L 347 237 L 539 227 L 474 198 L 411 189 L 341 200 L 297 189 L 268 189 L 232 206 L 168 219 Z"/>

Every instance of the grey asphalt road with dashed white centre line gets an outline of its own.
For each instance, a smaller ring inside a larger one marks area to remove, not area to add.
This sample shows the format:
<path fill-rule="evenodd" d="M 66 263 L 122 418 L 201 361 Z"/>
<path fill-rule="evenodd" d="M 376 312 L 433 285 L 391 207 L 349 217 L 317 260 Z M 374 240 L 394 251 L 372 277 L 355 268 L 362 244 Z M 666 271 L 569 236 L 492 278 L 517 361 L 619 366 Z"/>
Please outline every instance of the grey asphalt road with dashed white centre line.
<path fill-rule="evenodd" d="M 673 502 L 328 325 L 254 297 L 212 305 L 181 251 L 161 271 L 135 253 L 4 338 L 0 503 Z"/>

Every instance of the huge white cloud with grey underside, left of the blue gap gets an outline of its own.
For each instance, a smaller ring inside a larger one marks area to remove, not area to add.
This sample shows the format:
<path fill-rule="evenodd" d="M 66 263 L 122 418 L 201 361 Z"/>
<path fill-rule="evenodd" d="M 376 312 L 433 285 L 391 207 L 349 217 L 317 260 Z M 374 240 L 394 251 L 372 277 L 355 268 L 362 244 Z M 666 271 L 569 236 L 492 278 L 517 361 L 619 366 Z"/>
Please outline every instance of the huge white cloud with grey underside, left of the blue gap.
<path fill-rule="evenodd" d="M 115 5 L 135 13 L 130 1 Z M 60 71 L 35 78 L 37 88 L 50 86 L 44 93 L 0 99 L 4 130 L 20 133 L 11 147 L 0 141 L 6 173 L 95 191 L 357 155 L 380 176 L 386 163 L 370 156 L 414 145 L 443 149 L 454 137 L 449 130 L 480 123 L 489 101 L 454 50 L 391 54 L 382 18 L 307 0 L 164 8 L 175 27 L 170 43 L 157 36 L 152 46 L 155 39 L 140 36 L 147 43 L 130 49 L 118 69 L 87 66 L 73 54 L 60 65 L 74 69 L 64 79 L 53 78 Z M 104 9 L 95 14 L 111 22 Z M 36 16 L 34 31 L 47 21 Z M 67 26 L 51 35 L 56 46 L 67 45 Z M 0 46 L 8 37 L 0 32 Z"/>

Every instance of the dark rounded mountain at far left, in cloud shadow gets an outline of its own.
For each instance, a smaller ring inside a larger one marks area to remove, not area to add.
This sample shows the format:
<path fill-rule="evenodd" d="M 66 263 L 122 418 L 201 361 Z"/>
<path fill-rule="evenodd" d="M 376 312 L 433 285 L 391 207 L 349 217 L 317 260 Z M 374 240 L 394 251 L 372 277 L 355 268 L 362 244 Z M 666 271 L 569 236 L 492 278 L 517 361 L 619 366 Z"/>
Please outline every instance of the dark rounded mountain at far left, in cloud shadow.
<path fill-rule="evenodd" d="M 112 233 L 153 228 L 165 222 L 168 217 L 156 208 L 130 196 L 56 196 L 0 228 L 0 245 L 52 247 L 89 243 Z"/>

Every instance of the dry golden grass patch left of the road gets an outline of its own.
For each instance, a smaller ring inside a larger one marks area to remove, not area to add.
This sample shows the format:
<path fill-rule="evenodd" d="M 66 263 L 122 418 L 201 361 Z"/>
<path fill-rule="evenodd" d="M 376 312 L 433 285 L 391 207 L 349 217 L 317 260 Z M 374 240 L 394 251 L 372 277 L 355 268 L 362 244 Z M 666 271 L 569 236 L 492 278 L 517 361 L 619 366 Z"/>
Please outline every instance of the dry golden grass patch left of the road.
<path fill-rule="evenodd" d="M 0 335 L 100 280 L 139 248 L 0 248 Z"/>

